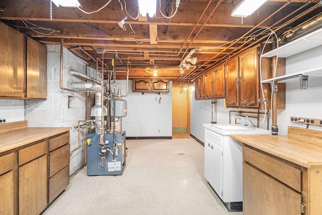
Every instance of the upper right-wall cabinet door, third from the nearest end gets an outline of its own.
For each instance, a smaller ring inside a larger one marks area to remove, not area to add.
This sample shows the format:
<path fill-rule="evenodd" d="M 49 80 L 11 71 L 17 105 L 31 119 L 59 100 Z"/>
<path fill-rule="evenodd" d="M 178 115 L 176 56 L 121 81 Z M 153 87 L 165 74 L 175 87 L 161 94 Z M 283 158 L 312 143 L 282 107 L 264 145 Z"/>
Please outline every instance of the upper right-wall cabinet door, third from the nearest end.
<path fill-rule="evenodd" d="M 218 66 L 214 69 L 213 75 L 213 98 L 225 98 L 225 70 L 224 65 Z"/>

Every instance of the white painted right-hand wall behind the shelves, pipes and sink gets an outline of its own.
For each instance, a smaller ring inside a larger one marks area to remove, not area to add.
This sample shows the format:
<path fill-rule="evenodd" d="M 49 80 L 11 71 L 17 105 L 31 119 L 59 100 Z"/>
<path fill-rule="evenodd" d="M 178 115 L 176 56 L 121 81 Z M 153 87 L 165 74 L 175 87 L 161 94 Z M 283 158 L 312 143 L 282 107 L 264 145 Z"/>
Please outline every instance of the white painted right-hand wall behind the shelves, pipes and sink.
<path fill-rule="evenodd" d="M 322 46 L 305 51 L 303 53 L 286 58 L 286 74 L 322 66 Z M 239 110 L 224 109 L 224 100 L 217 100 L 217 123 L 229 123 L 229 111 Z M 242 110 L 242 109 L 240 109 Z M 247 111 L 247 110 L 243 110 Z M 231 116 L 234 114 L 231 114 Z M 308 88 L 299 88 L 299 79 L 292 79 L 286 83 L 286 109 L 278 110 L 277 124 L 279 135 L 287 134 L 287 127 L 291 125 L 290 116 L 311 117 L 322 119 L 322 77 L 309 76 Z M 194 99 L 194 88 L 191 94 L 191 134 L 201 141 L 204 141 L 204 129 L 202 123 L 209 123 L 211 120 L 211 100 L 196 101 Z M 262 121 L 262 119 L 261 119 Z M 260 123 L 261 128 L 266 129 L 266 123 Z M 231 123 L 234 123 L 231 117 Z M 243 123 L 243 122 L 240 122 Z M 253 120 L 253 123 L 256 121 Z M 270 116 L 270 125 L 272 116 Z M 296 123 L 294 126 L 305 127 Z M 322 130 L 320 126 L 311 126 L 313 129 Z"/>

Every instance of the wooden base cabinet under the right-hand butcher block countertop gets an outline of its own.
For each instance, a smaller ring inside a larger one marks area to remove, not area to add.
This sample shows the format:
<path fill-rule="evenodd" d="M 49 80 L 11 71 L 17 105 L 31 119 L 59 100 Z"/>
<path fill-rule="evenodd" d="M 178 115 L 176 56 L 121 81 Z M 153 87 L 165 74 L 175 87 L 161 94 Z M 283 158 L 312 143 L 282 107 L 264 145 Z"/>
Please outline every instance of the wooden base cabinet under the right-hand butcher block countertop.
<path fill-rule="evenodd" d="M 304 168 L 243 145 L 243 214 L 321 214 L 321 165 Z"/>

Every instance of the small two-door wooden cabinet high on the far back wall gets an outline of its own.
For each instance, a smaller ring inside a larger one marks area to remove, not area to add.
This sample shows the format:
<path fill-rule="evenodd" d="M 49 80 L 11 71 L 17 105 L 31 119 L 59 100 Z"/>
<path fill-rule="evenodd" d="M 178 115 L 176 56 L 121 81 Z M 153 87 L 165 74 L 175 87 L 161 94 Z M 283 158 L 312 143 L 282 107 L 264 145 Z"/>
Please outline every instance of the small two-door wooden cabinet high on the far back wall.
<path fill-rule="evenodd" d="M 169 93 L 169 79 L 133 79 L 133 92 Z"/>

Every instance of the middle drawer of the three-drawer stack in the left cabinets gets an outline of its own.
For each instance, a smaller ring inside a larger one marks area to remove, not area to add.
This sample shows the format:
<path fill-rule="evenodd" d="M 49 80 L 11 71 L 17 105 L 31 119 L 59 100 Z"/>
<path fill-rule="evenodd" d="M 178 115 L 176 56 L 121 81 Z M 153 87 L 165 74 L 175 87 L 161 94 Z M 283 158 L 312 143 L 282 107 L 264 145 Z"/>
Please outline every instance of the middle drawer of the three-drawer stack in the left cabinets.
<path fill-rule="evenodd" d="M 69 164 L 69 144 L 49 153 L 49 178 Z"/>

